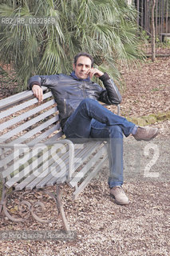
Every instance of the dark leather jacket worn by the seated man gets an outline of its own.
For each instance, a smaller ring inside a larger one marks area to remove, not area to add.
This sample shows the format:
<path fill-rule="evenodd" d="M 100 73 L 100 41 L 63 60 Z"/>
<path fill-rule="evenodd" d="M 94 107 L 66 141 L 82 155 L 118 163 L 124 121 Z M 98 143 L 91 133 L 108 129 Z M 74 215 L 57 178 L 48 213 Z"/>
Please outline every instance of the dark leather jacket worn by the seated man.
<path fill-rule="evenodd" d="M 35 75 L 29 79 L 28 86 L 30 90 L 33 85 L 46 86 L 52 91 L 63 128 L 66 119 L 85 98 L 93 98 L 109 105 L 121 103 L 121 94 L 109 75 L 105 73 L 100 79 L 105 88 L 90 80 L 85 81 L 65 74 Z"/>

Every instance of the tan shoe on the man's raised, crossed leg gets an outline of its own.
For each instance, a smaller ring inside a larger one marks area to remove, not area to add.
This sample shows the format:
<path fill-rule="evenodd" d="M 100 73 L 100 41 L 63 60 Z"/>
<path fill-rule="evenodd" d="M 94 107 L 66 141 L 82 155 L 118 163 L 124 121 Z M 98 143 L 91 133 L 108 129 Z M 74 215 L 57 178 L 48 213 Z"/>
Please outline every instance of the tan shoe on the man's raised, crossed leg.
<path fill-rule="evenodd" d="M 132 135 L 136 141 L 150 141 L 152 138 L 155 138 L 156 135 L 159 134 L 158 128 L 152 128 L 152 127 L 138 127 L 136 134 Z"/>

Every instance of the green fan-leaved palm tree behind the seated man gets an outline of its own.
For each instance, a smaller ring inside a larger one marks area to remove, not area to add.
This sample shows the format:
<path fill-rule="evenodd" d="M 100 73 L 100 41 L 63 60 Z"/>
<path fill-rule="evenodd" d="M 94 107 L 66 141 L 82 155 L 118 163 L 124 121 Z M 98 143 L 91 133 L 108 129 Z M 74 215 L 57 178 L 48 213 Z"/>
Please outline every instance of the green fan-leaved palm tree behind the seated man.
<path fill-rule="evenodd" d="M 116 80 L 120 61 L 143 57 L 136 37 L 136 11 L 125 0 L 1 2 L 1 64 L 13 66 L 23 90 L 33 74 L 68 74 L 79 51 L 93 54 L 95 64 Z"/>

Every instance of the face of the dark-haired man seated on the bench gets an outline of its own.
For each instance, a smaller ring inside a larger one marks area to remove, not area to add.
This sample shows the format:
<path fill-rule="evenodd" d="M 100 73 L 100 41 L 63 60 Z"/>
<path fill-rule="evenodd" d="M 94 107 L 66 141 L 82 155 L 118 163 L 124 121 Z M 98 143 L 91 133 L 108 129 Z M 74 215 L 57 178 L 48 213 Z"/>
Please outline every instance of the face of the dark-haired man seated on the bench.
<path fill-rule="evenodd" d="M 89 70 L 91 69 L 92 61 L 86 56 L 77 58 L 76 65 L 73 64 L 73 70 L 77 78 L 86 79 L 89 77 Z"/>

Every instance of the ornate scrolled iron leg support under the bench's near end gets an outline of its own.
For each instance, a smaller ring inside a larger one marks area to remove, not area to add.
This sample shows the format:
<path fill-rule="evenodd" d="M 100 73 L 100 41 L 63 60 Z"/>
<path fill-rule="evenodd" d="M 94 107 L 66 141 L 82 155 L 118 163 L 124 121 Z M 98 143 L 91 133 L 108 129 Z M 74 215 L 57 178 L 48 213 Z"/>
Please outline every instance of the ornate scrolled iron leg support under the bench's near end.
<path fill-rule="evenodd" d="M 46 190 L 13 190 L 12 192 L 10 192 L 10 194 L 8 194 L 6 193 L 6 187 L 4 186 L 2 190 L 2 200 L 0 209 L 6 215 L 6 217 L 13 222 L 26 222 L 26 219 L 30 218 L 30 216 L 32 216 L 38 222 L 52 222 L 55 218 L 44 219 L 42 216 L 42 214 L 44 214 L 45 211 L 48 210 L 48 205 L 47 207 L 45 207 L 44 202 L 41 202 L 39 200 L 33 202 L 31 198 L 27 198 L 28 195 L 32 194 L 33 196 L 35 196 L 36 193 L 41 193 L 45 197 L 50 197 L 53 199 L 57 206 L 57 216 L 61 218 L 62 224 L 65 227 L 65 231 L 69 231 L 69 224 L 65 217 L 65 211 L 61 202 L 61 190 L 59 185 L 57 185 L 56 194 L 53 194 Z M 27 197 L 25 194 L 27 194 Z M 26 197 L 26 199 L 24 197 Z M 41 198 L 43 197 L 41 196 Z M 10 206 L 8 205 L 8 201 L 10 201 Z"/>

